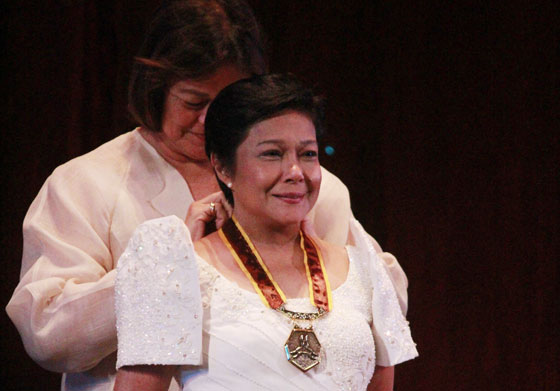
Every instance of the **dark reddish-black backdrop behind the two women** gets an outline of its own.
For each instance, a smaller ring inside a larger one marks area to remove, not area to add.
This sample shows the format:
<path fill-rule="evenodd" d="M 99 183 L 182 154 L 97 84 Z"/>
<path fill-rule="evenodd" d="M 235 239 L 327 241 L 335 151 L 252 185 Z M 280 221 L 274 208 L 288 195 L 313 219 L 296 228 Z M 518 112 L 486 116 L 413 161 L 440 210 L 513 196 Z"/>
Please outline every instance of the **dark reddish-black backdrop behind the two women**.
<path fill-rule="evenodd" d="M 59 164 L 132 128 L 131 57 L 157 1 L 0 9 L 5 305 L 21 222 Z M 322 163 L 410 279 L 420 358 L 397 390 L 557 390 L 558 7 L 552 1 L 251 3 L 271 68 L 324 91 Z M 3 389 L 55 390 L 1 319 Z"/>

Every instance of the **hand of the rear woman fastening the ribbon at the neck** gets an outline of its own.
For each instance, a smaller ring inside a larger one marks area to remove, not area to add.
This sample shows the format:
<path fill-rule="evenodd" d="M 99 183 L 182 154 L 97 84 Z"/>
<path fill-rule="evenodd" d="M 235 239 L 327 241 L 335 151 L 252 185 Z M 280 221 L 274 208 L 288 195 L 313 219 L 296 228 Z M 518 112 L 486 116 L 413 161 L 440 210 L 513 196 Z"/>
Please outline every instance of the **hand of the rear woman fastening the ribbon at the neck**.
<path fill-rule="evenodd" d="M 220 229 L 229 220 L 232 211 L 231 205 L 221 191 L 193 202 L 185 219 L 192 241 L 196 242 L 214 229 Z"/>

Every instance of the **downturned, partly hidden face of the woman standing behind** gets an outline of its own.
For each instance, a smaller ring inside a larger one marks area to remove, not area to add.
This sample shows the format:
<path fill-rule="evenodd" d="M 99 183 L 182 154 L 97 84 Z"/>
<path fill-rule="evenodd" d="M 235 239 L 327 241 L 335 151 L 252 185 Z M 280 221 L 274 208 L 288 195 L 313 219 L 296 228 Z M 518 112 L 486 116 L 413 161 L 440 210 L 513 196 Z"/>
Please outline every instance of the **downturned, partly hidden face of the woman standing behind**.
<path fill-rule="evenodd" d="M 162 117 L 162 153 L 174 161 L 205 161 L 204 120 L 208 105 L 229 84 L 248 77 L 235 65 L 224 65 L 201 80 L 182 80 L 167 93 Z"/>

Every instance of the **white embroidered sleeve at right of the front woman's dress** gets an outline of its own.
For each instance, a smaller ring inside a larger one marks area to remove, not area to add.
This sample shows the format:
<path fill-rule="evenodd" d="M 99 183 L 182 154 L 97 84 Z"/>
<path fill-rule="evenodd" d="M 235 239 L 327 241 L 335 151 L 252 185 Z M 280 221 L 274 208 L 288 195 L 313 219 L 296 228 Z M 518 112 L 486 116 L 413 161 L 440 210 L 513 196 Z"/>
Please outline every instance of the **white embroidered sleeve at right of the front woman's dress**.
<path fill-rule="evenodd" d="M 376 364 L 392 366 L 418 356 L 408 321 L 404 317 L 395 288 L 367 233 L 354 220 L 351 223 L 356 247 L 367 260 L 372 289 L 372 332 L 375 340 Z"/>

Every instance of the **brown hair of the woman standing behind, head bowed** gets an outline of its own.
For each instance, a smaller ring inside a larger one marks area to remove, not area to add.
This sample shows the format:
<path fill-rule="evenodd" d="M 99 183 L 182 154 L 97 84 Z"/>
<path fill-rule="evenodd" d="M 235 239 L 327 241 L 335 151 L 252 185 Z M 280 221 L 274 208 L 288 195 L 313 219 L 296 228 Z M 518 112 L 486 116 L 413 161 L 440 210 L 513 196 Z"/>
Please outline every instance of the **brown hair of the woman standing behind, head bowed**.
<path fill-rule="evenodd" d="M 169 88 L 225 64 L 250 75 L 266 72 L 262 33 L 245 0 L 166 1 L 135 57 L 128 110 L 144 128 L 159 132 Z"/>

